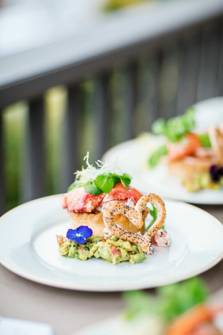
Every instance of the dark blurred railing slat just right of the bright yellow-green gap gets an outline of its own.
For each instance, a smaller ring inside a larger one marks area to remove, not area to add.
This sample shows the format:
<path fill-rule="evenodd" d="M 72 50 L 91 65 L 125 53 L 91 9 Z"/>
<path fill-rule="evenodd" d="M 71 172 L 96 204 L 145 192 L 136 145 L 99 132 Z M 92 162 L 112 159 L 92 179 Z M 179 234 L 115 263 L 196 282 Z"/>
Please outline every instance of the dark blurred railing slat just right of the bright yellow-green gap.
<path fill-rule="evenodd" d="M 64 187 L 67 188 L 74 181 L 74 172 L 79 166 L 80 133 L 80 87 L 79 85 L 68 88 L 67 113 L 65 120 L 66 143 L 64 152 L 65 166 L 63 169 Z"/>

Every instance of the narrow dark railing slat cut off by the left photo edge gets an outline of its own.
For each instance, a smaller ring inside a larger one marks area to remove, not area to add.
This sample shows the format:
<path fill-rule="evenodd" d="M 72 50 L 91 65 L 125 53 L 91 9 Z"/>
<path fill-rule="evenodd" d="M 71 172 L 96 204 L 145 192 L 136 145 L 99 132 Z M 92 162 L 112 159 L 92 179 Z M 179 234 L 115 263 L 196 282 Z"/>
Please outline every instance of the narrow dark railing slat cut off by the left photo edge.
<path fill-rule="evenodd" d="M 0 215 L 5 211 L 3 113 L 0 111 Z"/>

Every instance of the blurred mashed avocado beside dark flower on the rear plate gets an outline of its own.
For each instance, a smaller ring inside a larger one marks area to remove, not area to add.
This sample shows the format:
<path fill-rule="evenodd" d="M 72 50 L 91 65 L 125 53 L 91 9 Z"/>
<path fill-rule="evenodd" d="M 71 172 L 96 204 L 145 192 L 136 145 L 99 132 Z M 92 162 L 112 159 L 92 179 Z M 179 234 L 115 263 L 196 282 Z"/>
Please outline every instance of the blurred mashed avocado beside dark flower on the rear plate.
<path fill-rule="evenodd" d="M 213 182 L 210 174 L 207 172 L 197 174 L 191 180 L 183 181 L 183 185 L 186 187 L 188 192 L 197 192 L 206 189 L 218 190 L 223 187 L 223 178 L 221 178 L 219 182 Z"/>

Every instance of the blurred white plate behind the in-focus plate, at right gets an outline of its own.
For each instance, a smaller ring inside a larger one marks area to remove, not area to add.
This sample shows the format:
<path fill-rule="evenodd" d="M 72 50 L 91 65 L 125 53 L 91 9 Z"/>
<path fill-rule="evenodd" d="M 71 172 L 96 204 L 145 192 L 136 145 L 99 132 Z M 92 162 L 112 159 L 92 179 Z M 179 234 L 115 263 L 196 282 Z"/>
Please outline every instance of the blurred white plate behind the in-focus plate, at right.
<path fill-rule="evenodd" d="M 194 106 L 196 130 L 205 131 L 213 124 L 223 122 L 223 98 L 202 101 Z M 211 114 L 210 114 L 211 111 Z M 132 177 L 131 185 L 142 193 L 156 193 L 160 197 L 186 201 L 194 204 L 223 204 L 223 190 L 202 190 L 187 192 L 180 180 L 172 176 L 164 164 L 148 168 L 148 157 L 154 149 L 165 143 L 162 137 L 149 133 L 134 140 L 123 142 L 102 157 L 102 161 L 117 163 L 123 172 Z"/>

